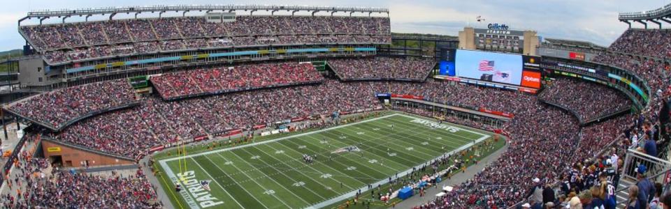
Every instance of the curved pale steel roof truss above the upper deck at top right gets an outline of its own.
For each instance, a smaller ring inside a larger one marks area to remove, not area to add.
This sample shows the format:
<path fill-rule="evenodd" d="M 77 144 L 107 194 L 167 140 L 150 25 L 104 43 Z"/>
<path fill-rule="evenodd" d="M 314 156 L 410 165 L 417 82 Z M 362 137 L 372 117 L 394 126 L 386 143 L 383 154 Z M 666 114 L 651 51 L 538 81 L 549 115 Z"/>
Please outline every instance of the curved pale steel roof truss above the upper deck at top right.
<path fill-rule="evenodd" d="M 631 22 L 638 22 L 643 24 L 646 29 L 648 28 L 647 22 L 653 22 L 659 26 L 659 29 L 662 29 L 662 23 L 660 21 L 671 23 L 671 3 L 654 10 L 634 13 L 619 13 L 618 20 L 620 20 L 620 22 L 625 22 L 629 25 L 630 28 Z"/>

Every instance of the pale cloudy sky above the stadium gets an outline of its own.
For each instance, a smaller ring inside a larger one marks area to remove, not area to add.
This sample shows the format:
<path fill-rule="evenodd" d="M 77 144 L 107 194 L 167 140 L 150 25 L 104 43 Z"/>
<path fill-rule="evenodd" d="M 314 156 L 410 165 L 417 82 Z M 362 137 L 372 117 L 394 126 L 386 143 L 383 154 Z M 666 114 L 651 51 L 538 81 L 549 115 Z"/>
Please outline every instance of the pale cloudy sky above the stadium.
<path fill-rule="evenodd" d="M 318 3 L 317 3 L 318 2 Z M 587 40 L 610 45 L 626 30 L 617 13 L 659 8 L 662 0 L 327 0 L 327 1 L 212 1 L 212 0 L 23 0 L 6 1 L 0 7 L 0 51 L 18 49 L 24 40 L 17 33 L 17 20 L 30 10 L 62 8 L 99 8 L 109 6 L 150 6 L 178 4 L 283 4 L 305 6 L 382 7 L 391 11 L 391 31 L 455 35 L 463 26 L 481 26 L 475 17 L 486 22 L 504 23 L 510 29 L 531 29 L 544 38 Z M 103 18 L 103 17 L 100 17 Z M 52 20 L 56 21 L 56 20 Z"/>

